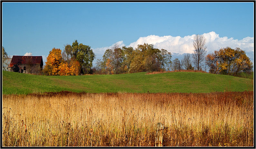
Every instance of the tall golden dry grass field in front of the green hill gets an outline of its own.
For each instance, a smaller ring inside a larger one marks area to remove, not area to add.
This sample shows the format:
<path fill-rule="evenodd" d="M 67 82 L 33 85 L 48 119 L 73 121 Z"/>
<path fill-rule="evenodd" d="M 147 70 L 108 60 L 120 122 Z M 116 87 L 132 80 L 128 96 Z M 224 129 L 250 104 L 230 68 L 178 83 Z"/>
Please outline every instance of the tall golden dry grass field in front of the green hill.
<path fill-rule="evenodd" d="M 2 146 L 253 146 L 253 91 L 3 95 Z"/>

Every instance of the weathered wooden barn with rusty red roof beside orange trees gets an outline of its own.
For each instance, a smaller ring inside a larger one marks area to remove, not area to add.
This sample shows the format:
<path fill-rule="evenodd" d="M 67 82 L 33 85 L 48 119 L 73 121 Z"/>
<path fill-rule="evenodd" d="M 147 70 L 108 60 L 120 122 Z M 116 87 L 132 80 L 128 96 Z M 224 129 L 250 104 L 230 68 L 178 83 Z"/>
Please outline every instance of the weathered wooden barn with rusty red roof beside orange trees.
<path fill-rule="evenodd" d="M 14 55 L 7 69 L 20 73 L 39 74 L 43 69 L 43 57 Z"/>

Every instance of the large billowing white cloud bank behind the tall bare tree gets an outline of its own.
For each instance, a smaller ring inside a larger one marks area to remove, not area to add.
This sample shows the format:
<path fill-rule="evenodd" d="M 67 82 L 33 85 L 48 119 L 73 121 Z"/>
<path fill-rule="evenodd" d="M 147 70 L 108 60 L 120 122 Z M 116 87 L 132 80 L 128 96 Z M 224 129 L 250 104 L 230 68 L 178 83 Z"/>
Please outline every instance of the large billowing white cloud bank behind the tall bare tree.
<path fill-rule="evenodd" d="M 158 49 L 166 49 L 169 52 L 174 53 L 193 53 L 193 40 L 194 35 L 188 35 L 185 37 L 180 36 L 156 36 L 149 35 L 147 37 L 140 37 L 136 42 L 130 43 L 129 46 L 136 48 L 138 44 L 154 44 L 155 48 Z M 219 34 L 215 32 L 204 33 L 204 37 L 206 38 L 206 45 L 208 53 L 212 53 L 215 50 L 219 50 L 222 47 L 231 47 L 236 48 L 239 47 L 244 51 L 251 52 L 254 49 L 254 38 L 246 37 L 242 40 L 237 40 L 228 37 L 220 37 Z"/>

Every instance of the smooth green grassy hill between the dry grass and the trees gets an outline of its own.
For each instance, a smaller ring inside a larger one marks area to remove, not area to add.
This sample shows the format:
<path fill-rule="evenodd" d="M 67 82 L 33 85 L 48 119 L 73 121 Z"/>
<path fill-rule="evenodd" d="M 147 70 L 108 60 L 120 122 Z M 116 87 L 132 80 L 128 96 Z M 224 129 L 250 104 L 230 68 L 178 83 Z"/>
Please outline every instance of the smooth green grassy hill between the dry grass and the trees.
<path fill-rule="evenodd" d="M 253 80 L 201 72 L 39 76 L 3 71 L 3 94 L 35 92 L 223 92 L 253 90 Z"/>

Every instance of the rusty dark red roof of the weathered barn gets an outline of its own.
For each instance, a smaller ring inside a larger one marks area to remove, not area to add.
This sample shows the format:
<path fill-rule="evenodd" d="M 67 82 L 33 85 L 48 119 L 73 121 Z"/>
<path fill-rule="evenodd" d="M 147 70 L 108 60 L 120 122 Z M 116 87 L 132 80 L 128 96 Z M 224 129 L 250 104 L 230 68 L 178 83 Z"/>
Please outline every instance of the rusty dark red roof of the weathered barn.
<path fill-rule="evenodd" d="M 18 56 L 14 55 L 9 67 L 13 67 L 14 64 L 42 64 L 43 58 L 42 56 Z"/>

